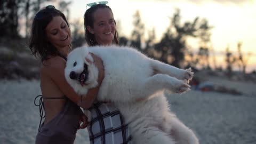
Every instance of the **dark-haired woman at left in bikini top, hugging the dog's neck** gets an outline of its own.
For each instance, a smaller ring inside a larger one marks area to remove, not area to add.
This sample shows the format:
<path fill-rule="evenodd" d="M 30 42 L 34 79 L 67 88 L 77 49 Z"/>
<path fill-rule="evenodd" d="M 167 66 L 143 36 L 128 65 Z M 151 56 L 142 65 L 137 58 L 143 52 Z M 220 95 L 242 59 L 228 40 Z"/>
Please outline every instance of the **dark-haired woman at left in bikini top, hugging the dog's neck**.
<path fill-rule="evenodd" d="M 87 117 L 79 108 L 89 108 L 98 93 L 99 87 L 91 89 L 88 97 L 82 97 L 74 92 L 64 75 L 66 57 L 71 49 L 71 34 L 65 15 L 54 6 L 46 6 L 40 10 L 31 29 L 29 48 L 32 54 L 41 58 L 40 68 L 41 121 L 36 143 L 74 143 L 76 132 L 85 128 Z M 102 62 L 94 57 L 94 63 L 103 69 Z M 98 61 L 98 62 L 97 62 Z M 102 77 L 101 75 L 99 75 Z M 99 85 L 102 79 L 99 78 Z M 86 96 L 86 95 L 84 95 Z M 45 108 L 45 109 L 44 109 Z M 82 123 L 82 125 L 79 125 Z"/>

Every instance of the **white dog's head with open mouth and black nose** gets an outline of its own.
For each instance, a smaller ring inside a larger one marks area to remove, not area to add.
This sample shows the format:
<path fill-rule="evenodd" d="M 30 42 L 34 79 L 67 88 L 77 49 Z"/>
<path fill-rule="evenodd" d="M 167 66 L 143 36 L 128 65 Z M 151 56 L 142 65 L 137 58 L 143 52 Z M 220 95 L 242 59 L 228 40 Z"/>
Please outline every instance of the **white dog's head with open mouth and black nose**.
<path fill-rule="evenodd" d="M 98 73 L 87 47 L 78 47 L 69 53 L 65 77 L 76 92 L 97 86 Z"/>

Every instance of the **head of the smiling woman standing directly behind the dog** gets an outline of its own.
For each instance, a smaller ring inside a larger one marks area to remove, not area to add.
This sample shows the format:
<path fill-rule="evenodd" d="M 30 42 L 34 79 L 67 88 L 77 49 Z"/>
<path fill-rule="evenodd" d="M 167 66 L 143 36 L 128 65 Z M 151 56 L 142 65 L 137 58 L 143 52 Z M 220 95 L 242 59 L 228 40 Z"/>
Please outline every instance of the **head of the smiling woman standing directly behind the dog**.
<path fill-rule="evenodd" d="M 84 14 L 85 39 L 88 45 L 118 44 L 116 22 L 109 6 L 98 4 Z"/>

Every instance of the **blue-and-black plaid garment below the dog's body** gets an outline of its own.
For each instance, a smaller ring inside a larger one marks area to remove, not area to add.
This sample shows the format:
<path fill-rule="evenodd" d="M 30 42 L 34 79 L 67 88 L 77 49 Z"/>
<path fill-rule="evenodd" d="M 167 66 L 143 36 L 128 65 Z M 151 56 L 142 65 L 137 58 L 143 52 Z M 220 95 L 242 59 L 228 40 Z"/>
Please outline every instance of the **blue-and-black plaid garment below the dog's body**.
<path fill-rule="evenodd" d="M 113 103 L 94 103 L 89 110 L 92 119 L 87 124 L 87 129 L 91 144 L 131 143 L 128 126 Z"/>

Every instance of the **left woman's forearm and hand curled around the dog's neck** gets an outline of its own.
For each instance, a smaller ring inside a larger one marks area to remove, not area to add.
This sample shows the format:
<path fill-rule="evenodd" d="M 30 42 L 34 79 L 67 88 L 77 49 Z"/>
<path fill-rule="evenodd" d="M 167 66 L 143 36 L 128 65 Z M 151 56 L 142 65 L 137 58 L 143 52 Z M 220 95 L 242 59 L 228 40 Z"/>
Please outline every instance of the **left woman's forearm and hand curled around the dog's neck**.
<path fill-rule="evenodd" d="M 98 95 L 100 85 L 104 78 L 104 67 L 103 67 L 102 60 L 97 55 L 94 55 L 93 53 L 91 53 L 91 54 L 92 54 L 92 58 L 93 58 L 93 63 L 99 70 L 99 75 L 98 75 L 98 83 L 99 84 L 97 87 L 90 89 L 86 95 L 82 95 L 81 101 L 79 101 L 77 103 L 78 106 L 85 108 L 85 109 L 88 109 L 91 107 L 93 101 L 95 100 L 95 98 Z"/>

